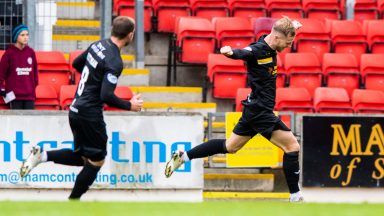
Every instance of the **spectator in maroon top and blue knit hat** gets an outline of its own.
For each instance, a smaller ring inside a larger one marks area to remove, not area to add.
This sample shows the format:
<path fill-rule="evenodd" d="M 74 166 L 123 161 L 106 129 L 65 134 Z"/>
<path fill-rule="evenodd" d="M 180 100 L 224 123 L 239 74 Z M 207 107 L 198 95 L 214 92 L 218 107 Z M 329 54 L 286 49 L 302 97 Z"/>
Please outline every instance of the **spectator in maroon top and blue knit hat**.
<path fill-rule="evenodd" d="M 28 27 L 21 24 L 12 30 L 12 42 L 0 61 L 0 94 L 13 92 L 11 109 L 34 109 L 38 84 L 35 51 L 28 46 Z"/>

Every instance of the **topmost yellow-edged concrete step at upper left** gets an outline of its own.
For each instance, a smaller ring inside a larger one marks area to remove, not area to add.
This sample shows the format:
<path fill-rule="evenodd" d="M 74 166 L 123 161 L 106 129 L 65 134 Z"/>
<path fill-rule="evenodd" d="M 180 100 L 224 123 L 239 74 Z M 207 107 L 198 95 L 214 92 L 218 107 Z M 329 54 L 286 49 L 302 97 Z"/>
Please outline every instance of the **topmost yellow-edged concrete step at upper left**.
<path fill-rule="evenodd" d="M 56 5 L 58 19 L 95 19 L 94 1 L 58 1 Z"/>

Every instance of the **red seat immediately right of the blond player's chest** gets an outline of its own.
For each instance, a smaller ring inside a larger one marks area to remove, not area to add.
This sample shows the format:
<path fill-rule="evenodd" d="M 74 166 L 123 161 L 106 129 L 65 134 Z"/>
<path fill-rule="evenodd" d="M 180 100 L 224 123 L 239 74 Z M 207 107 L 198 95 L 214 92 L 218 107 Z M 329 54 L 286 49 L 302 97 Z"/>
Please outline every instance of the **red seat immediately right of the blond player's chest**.
<path fill-rule="evenodd" d="M 322 71 L 316 54 L 287 53 L 284 64 L 290 87 L 306 88 L 313 95 L 315 89 L 321 86 Z"/>

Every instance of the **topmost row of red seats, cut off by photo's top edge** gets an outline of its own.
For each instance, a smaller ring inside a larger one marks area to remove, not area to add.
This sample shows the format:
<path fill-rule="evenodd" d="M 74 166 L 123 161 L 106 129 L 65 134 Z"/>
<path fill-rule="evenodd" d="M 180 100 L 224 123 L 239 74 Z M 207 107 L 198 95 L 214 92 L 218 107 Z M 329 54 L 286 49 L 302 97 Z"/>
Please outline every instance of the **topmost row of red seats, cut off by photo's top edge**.
<path fill-rule="evenodd" d="M 135 0 L 114 0 L 116 15 L 135 17 Z M 384 11 L 383 0 L 355 0 L 355 20 L 377 19 Z M 323 20 L 341 19 L 345 0 L 145 0 L 144 29 L 173 32 L 179 16 L 214 17 L 275 17 Z"/>

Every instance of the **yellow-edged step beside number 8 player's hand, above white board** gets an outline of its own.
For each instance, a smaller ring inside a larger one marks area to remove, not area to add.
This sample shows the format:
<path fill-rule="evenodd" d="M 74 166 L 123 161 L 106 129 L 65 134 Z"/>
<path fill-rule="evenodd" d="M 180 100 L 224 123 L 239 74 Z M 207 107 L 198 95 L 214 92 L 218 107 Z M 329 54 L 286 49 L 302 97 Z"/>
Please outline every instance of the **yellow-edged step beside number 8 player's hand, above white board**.
<path fill-rule="evenodd" d="M 213 108 L 208 104 L 199 105 L 202 101 L 202 88 L 200 87 L 132 86 L 130 88 L 134 93 L 140 93 L 144 101 L 153 102 L 151 104 L 153 108 L 155 106 L 166 108 L 168 105 L 163 102 L 175 103 L 178 104 L 176 107 L 184 106 L 184 109 L 188 109 L 187 107 Z M 216 105 L 214 108 L 216 110 Z"/>

